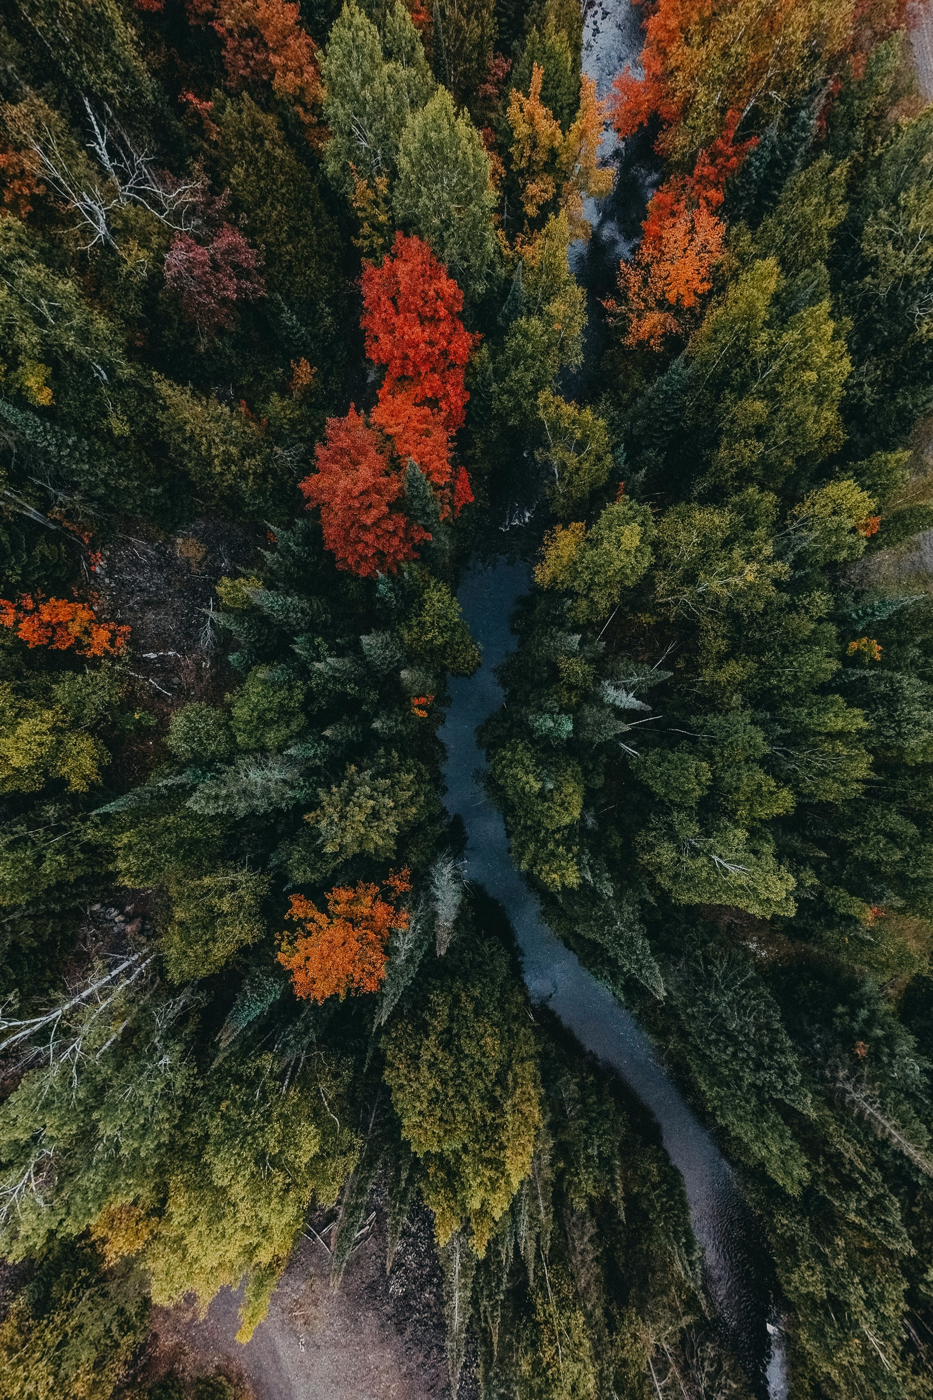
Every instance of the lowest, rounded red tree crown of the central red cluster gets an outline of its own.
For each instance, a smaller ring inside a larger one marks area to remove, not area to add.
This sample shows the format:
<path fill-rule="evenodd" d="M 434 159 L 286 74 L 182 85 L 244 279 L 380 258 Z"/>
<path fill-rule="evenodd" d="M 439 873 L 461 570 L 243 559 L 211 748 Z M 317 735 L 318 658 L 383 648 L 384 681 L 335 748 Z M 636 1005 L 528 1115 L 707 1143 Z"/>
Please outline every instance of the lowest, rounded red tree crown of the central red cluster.
<path fill-rule="evenodd" d="M 417 559 L 415 545 L 431 536 L 393 504 L 404 491 L 376 435 L 351 406 L 346 419 L 327 419 L 327 438 L 315 449 L 318 470 L 299 482 L 308 505 L 320 507 L 325 545 L 337 567 L 361 578 L 393 574 Z"/>

